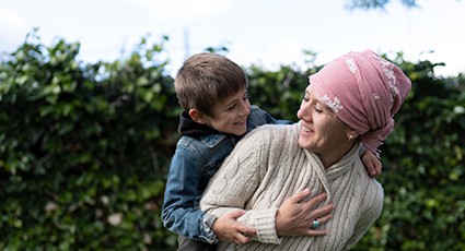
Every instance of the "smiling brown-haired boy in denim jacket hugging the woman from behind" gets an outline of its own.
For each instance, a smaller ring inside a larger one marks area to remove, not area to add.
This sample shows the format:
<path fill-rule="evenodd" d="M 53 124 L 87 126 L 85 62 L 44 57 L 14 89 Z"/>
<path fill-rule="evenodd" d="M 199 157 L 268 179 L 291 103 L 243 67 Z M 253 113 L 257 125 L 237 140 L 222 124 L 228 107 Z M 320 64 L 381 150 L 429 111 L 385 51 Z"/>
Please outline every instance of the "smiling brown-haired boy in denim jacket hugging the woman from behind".
<path fill-rule="evenodd" d="M 251 106 L 247 85 L 242 68 L 208 52 L 187 59 L 176 74 L 176 95 L 185 111 L 181 115 L 182 139 L 171 163 L 162 219 L 167 229 L 179 235 L 179 250 L 214 250 L 212 244 L 218 239 L 233 242 L 237 232 L 255 234 L 255 229 L 235 222 L 243 212 L 217 218 L 198 210 L 209 179 L 245 133 L 265 123 L 293 123 L 275 120 Z M 249 240 L 239 237 L 242 242 Z"/>

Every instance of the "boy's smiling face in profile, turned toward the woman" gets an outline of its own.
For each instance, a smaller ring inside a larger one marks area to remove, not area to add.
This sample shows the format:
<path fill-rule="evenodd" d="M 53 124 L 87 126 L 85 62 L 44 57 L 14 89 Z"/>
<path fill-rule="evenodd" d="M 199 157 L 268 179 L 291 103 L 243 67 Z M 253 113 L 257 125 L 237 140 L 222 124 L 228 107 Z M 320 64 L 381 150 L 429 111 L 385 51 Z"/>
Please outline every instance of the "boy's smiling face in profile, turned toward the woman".
<path fill-rule="evenodd" d="M 214 118 L 206 116 L 207 124 L 213 129 L 234 135 L 244 135 L 247 131 L 247 116 L 251 112 L 247 91 L 242 89 L 214 106 Z"/>

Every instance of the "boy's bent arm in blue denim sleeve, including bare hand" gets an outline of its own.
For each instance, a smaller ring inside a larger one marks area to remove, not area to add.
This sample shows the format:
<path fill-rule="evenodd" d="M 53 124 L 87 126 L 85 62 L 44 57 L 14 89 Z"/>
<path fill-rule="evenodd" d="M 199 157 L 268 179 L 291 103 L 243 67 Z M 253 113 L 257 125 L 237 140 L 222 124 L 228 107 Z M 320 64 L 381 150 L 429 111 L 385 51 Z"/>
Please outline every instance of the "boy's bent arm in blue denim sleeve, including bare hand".
<path fill-rule="evenodd" d="M 218 239 L 235 244 L 248 242 L 251 237 L 243 234 L 255 235 L 255 229 L 235 220 L 244 212 L 233 212 L 217 218 L 198 210 L 197 200 L 201 194 L 198 191 L 200 166 L 190 151 L 178 146 L 166 183 L 162 211 L 164 226 L 177 235 L 211 244 L 217 243 Z"/>

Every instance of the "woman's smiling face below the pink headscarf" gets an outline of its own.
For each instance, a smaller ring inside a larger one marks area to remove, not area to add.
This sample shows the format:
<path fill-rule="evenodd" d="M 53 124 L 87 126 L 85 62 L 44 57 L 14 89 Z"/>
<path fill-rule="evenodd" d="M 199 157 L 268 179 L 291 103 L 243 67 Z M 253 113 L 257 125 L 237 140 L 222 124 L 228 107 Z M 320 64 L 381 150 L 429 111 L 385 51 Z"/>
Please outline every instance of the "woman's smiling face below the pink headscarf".
<path fill-rule="evenodd" d="M 313 87 L 309 85 L 298 111 L 301 119 L 299 144 L 313 153 L 346 154 L 350 148 L 349 135 L 358 136 L 354 131 L 344 123 L 326 105 Z"/>

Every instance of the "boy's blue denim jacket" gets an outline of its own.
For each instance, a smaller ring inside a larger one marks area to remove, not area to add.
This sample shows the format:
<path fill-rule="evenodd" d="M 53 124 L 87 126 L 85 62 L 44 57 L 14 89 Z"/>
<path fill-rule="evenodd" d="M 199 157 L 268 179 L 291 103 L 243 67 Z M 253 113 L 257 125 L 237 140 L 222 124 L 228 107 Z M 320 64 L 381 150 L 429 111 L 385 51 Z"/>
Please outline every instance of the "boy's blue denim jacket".
<path fill-rule="evenodd" d="M 188 116 L 182 115 L 179 128 L 189 119 Z M 188 122 L 193 123 L 193 120 Z M 293 122 L 275 120 L 260 108 L 251 106 L 247 132 L 265 123 Z M 218 242 L 217 236 L 211 230 L 217 217 L 199 211 L 198 205 L 208 181 L 241 139 L 242 136 L 220 133 L 212 129 L 181 138 L 171 162 L 164 194 L 162 220 L 165 228 L 194 240 Z"/>

